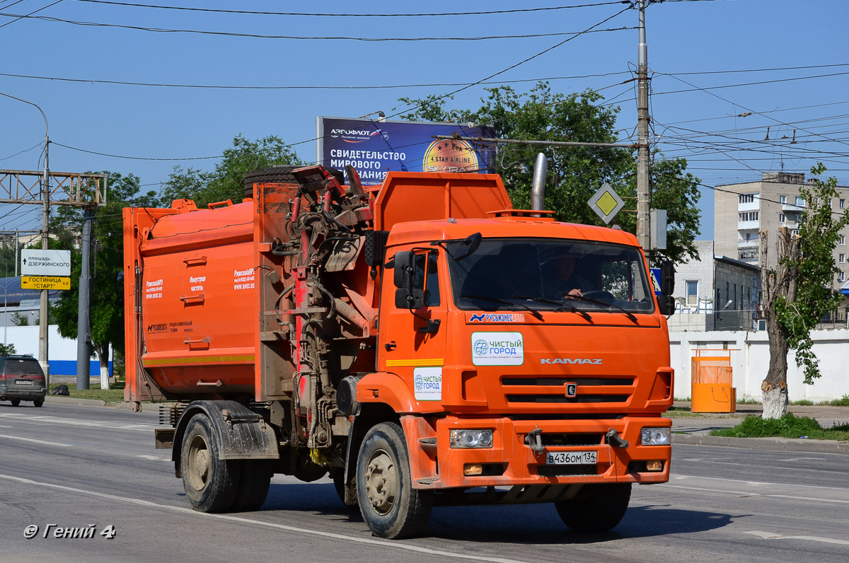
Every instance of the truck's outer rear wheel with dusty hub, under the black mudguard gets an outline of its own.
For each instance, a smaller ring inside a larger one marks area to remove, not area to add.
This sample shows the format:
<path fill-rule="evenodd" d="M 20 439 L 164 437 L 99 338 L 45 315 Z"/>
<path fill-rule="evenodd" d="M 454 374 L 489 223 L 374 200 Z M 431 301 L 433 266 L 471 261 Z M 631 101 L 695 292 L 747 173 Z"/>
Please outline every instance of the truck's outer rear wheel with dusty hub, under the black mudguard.
<path fill-rule="evenodd" d="M 195 414 L 183 435 L 180 458 L 183 487 L 194 510 L 224 512 L 233 505 L 239 462 L 218 458 L 218 442 L 210 419 Z"/>

